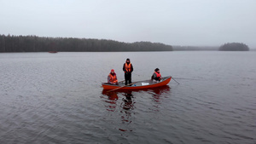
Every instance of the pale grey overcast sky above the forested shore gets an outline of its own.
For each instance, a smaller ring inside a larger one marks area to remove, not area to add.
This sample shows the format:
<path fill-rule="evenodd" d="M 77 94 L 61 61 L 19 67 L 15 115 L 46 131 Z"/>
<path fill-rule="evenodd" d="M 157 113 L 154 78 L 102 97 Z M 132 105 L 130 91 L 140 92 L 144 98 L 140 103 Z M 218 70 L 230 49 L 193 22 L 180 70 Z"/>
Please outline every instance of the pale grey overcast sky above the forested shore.
<path fill-rule="evenodd" d="M 256 48 L 256 0 L 0 0 L 0 34 Z"/>

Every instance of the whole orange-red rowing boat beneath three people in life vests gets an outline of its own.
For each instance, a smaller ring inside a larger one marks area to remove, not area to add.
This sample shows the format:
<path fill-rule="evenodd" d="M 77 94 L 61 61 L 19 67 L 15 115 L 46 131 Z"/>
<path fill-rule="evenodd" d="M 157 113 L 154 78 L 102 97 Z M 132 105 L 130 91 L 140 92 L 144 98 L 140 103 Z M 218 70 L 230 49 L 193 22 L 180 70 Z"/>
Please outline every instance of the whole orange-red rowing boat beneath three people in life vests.
<path fill-rule="evenodd" d="M 164 85 L 167 85 L 171 81 L 171 76 L 164 77 L 161 79 L 159 83 L 154 83 L 151 79 L 150 80 L 143 80 L 143 81 L 138 81 L 131 83 L 130 85 L 125 85 L 123 82 L 119 82 L 117 85 L 113 84 L 108 84 L 108 83 L 102 83 L 103 89 L 119 89 L 119 90 L 124 90 L 124 89 L 153 89 L 157 87 L 161 87 Z"/>

